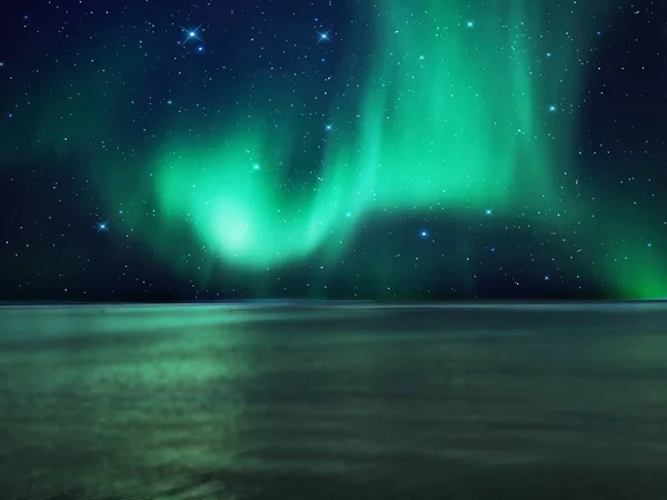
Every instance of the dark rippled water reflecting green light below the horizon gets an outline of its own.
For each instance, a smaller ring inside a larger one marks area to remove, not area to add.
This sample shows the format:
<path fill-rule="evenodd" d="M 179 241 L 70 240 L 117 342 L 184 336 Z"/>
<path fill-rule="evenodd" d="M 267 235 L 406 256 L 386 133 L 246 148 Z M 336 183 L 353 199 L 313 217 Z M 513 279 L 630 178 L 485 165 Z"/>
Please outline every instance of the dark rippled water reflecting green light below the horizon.
<path fill-rule="evenodd" d="M 0 498 L 667 499 L 667 307 L 0 309 Z"/>

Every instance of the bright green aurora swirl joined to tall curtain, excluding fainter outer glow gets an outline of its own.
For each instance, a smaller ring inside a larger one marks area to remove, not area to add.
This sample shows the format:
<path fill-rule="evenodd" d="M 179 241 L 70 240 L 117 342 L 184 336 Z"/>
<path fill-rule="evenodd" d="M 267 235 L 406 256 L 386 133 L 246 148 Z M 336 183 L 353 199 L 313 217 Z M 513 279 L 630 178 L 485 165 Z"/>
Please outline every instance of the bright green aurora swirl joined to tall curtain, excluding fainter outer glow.
<path fill-rule="evenodd" d="M 315 189 L 280 190 L 295 138 L 287 124 L 277 140 L 257 124 L 271 121 L 260 112 L 206 147 L 169 146 L 157 160 L 162 210 L 187 214 L 215 252 L 261 269 L 331 238 L 347 241 L 366 214 L 434 204 L 507 211 L 555 198 L 550 172 L 567 159 L 568 139 L 549 143 L 549 120 L 563 118 L 549 116 L 548 106 L 570 106 L 577 86 L 567 63 L 546 61 L 557 42 L 536 22 L 546 9 L 497 2 L 470 13 L 474 27 L 466 10 L 461 1 L 379 6 L 388 14 L 375 14 L 359 103 L 331 103 L 337 130 Z"/>

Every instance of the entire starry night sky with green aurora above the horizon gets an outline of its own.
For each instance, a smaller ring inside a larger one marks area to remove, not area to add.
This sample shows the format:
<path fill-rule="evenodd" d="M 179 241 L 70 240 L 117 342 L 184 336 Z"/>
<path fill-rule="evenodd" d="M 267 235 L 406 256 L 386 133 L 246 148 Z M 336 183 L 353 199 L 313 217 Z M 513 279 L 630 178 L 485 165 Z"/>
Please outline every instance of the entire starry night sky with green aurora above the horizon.
<path fill-rule="evenodd" d="M 0 19 L 1 300 L 667 298 L 667 6 Z"/>

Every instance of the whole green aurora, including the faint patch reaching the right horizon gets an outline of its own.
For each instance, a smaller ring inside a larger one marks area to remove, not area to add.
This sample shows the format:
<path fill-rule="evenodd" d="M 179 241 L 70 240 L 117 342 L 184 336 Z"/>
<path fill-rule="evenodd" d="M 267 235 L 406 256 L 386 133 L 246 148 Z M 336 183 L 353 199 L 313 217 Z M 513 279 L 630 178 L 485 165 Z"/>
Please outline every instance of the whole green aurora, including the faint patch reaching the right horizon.
<path fill-rule="evenodd" d="M 47 107 L 38 136 L 43 144 L 71 132 L 68 147 L 93 159 L 109 210 L 157 200 L 155 220 L 128 210 L 122 223 L 175 268 L 182 266 L 175 242 L 183 228 L 195 232 L 208 256 L 199 280 L 211 279 L 217 259 L 249 272 L 315 254 L 332 261 L 359 227 L 392 212 L 465 211 L 474 219 L 492 210 L 545 233 L 579 224 L 587 248 L 599 248 L 593 271 L 615 297 L 667 297 L 667 269 L 636 243 L 660 228 L 638 213 L 599 217 L 585 201 L 595 193 L 575 178 L 584 87 L 577 59 L 586 40 L 595 43 L 591 20 L 613 22 L 613 12 L 601 2 L 576 3 L 567 13 L 545 3 L 500 0 L 470 12 L 462 0 L 425 0 L 419 9 L 379 0 L 377 9 L 365 8 L 359 16 L 372 22 L 370 33 L 336 43 L 344 60 L 361 51 L 370 62 L 336 76 L 348 90 L 328 101 L 332 130 L 313 166 L 315 184 L 292 177 L 303 143 L 317 134 L 299 124 L 299 104 L 312 99 L 308 87 L 298 96 L 270 82 L 252 96 L 241 86 L 228 90 L 221 99 L 239 104 L 208 118 L 217 126 L 197 133 L 175 126 L 170 140 L 151 144 L 148 160 L 122 158 L 150 162 L 136 182 L 113 173 L 110 163 L 120 157 L 90 146 L 113 127 L 115 107 L 128 99 L 122 86 L 106 90 L 106 109 L 87 110 L 84 133 L 63 121 L 62 109 Z M 145 63 L 130 50 L 120 59 L 128 76 Z M 253 96 L 262 93 L 270 106 L 257 103 Z"/>

